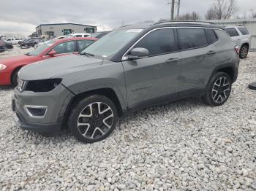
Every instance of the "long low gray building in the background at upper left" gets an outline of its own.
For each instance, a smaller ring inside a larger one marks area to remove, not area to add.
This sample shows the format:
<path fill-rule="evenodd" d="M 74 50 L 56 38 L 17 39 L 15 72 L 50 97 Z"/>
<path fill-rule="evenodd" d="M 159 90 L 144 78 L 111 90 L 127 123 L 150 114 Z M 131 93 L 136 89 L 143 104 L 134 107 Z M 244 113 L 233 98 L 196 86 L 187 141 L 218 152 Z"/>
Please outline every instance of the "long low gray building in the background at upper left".
<path fill-rule="evenodd" d="M 97 26 L 88 26 L 75 23 L 41 24 L 36 27 L 38 36 L 62 36 L 72 33 L 94 33 Z"/>

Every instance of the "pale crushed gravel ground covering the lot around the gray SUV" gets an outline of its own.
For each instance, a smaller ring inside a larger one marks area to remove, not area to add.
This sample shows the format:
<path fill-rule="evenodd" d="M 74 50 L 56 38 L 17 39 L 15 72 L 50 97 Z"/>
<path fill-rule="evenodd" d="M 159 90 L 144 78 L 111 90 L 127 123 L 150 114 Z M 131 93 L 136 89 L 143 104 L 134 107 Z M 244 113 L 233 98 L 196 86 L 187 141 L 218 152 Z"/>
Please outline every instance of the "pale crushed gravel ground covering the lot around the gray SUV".
<path fill-rule="evenodd" d="M 256 190 L 255 61 L 241 61 L 224 106 L 190 98 L 144 109 L 95 144 L 20 130 L 12 89 L 1 87 L 0 190 Z"/>

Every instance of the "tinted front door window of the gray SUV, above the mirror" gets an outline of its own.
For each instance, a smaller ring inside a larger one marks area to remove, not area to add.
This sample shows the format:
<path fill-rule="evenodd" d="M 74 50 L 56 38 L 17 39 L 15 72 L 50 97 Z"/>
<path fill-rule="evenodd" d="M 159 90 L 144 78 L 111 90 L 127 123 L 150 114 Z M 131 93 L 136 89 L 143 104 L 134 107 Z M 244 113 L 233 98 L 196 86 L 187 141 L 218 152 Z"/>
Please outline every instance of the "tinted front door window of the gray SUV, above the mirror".
<path fill-rule="evenodd" d="M 135 47 L 143 47 L 149 55 L 161 55 L 178 50 L 173 28 L 159 29 L 140 40 Z"/>

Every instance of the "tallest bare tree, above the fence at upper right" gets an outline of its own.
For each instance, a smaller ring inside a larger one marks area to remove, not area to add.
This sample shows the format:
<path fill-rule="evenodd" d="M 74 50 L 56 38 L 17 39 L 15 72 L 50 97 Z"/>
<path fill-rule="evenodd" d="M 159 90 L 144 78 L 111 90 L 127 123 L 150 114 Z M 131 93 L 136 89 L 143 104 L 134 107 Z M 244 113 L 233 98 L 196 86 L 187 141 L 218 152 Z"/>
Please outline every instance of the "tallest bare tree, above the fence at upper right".
<path fill-rule="evenodd" d="M 237 0 L 214 0 L 205 17 L 211 19 L 229 19 L 238 11 Z"/>

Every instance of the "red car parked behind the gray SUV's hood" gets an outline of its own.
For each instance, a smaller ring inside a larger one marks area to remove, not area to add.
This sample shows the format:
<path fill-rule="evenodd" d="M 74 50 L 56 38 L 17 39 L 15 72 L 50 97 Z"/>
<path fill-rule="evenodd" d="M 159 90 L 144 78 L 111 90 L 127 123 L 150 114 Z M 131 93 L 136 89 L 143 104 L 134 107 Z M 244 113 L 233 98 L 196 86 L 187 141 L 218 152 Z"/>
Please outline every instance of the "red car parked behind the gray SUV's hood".
<path fill-rule="evenodd" d="M 17 85 L 18 71 L 22 66 L 56 56 L 82 51 L 95 42 L 95 38 L 72 38 L 49 41 L 26 55 L 0 58 L 0 85 Z"/>

